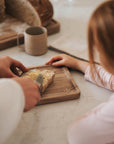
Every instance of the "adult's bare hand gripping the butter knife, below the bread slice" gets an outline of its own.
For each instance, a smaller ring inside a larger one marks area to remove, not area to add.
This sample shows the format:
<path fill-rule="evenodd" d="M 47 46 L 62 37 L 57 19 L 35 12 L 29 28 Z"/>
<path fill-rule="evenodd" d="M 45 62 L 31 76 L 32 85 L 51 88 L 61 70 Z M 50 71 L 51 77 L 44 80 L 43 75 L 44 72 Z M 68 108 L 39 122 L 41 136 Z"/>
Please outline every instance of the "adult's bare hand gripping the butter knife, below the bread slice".
<path fill-rule="evenodd" d="M 24 111 L 32 109 L 40 101 L 39 85 L 35 83 L 31 78 L 24 77 L 13 78 L 23 89 L 25 96 L 25 108 Z"/>

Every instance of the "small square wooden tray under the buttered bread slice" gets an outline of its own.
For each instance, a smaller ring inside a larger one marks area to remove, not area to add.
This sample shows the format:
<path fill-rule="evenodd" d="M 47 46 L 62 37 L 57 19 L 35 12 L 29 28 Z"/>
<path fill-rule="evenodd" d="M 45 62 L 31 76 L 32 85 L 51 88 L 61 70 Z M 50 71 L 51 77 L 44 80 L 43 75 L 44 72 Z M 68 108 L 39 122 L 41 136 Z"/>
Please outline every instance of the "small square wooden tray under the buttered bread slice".
<path fill-rule="evenodd" d="M 73 100 L 80 97 L 80 90 L 66 67 L 38 66 L 30 69 L 53 70 L 55 78 L 45 90 L 38 105 Z"/>

